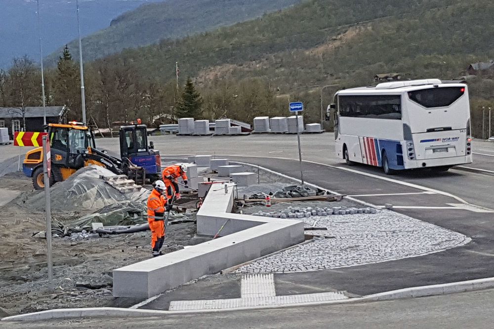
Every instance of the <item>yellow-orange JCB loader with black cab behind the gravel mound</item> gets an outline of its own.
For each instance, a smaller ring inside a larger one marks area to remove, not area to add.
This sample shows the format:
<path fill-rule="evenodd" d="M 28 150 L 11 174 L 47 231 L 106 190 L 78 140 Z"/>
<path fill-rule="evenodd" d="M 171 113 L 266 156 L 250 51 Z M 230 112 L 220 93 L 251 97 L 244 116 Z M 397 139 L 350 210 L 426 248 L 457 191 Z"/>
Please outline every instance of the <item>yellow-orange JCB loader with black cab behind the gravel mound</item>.
<path fill-rule="evenodd" d="M 48 137 L 51 148 L 50 185 L 65 181 L 78 169 L 91 164 L 105 167 L 117 175 L 125 174 L 122 161 L 98 150 L 91 130 L 80 122 L 50 123 Z M 44 188 L 42 147 L 27 152 L 22 170 L 33 178 L 35 189 Z"/>

